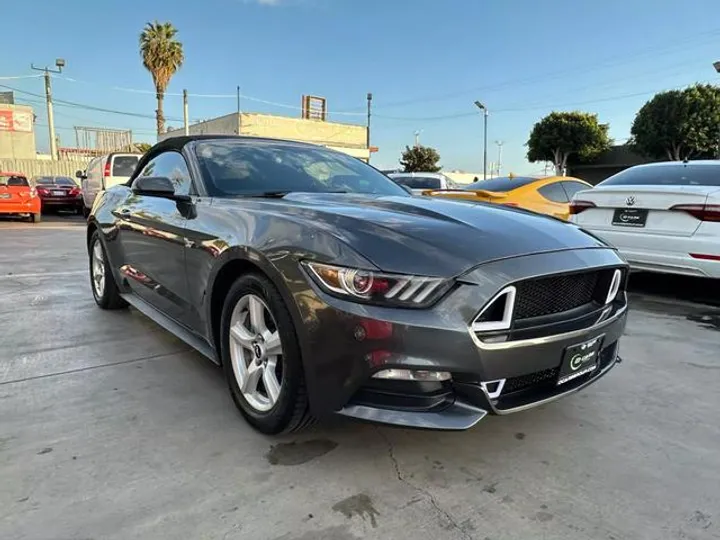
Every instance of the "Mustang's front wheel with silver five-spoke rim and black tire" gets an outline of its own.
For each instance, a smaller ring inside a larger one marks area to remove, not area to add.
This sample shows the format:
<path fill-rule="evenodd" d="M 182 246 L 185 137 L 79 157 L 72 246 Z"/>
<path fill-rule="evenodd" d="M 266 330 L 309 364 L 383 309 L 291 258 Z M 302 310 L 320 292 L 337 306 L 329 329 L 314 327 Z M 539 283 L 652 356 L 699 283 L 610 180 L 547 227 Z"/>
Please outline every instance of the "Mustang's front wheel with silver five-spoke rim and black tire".
<path fill-rule="evenodd" d="M 230 395 L 258 431 L 298 431 L 312 421 L 295 325 L 264 276 L 239 278 L 225 298 L 221 357 Z"/>

